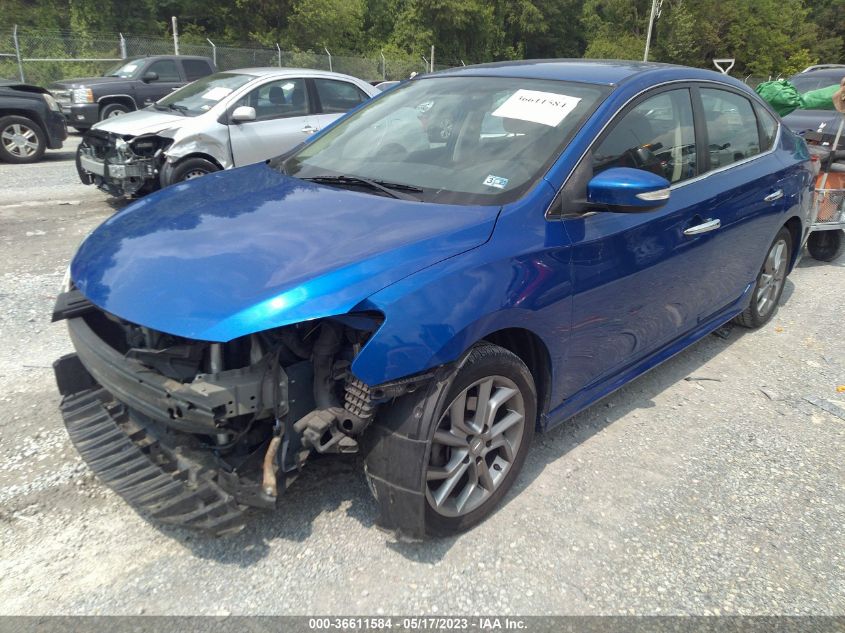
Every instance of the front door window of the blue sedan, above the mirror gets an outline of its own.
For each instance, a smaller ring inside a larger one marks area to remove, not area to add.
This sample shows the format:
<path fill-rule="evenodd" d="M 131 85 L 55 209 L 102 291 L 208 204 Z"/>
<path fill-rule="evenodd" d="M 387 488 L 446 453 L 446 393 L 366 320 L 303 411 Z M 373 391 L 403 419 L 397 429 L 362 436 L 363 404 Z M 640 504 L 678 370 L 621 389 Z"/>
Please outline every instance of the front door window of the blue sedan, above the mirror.
<path fill-rule="evenodd" d="M 593 173 L 610 167 L 643 169 L 669 182 L 697 172 L 692 101 L 687 89 L 669 90 L 629 110 L 593 151 Z"/>

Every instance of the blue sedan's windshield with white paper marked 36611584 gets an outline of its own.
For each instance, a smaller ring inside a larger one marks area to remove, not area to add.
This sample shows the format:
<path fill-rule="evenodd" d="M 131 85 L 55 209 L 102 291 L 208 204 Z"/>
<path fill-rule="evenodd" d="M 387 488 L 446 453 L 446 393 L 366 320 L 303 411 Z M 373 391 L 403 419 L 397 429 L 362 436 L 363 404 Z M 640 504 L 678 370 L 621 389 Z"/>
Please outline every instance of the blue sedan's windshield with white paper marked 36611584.
<path fill-rule="evenodd" d="M 543 176 L 604 86 L 430 77 L 398 86 L 280 163 L 302 179 L 365 178 L 427 202 L 502 204 Z"/>

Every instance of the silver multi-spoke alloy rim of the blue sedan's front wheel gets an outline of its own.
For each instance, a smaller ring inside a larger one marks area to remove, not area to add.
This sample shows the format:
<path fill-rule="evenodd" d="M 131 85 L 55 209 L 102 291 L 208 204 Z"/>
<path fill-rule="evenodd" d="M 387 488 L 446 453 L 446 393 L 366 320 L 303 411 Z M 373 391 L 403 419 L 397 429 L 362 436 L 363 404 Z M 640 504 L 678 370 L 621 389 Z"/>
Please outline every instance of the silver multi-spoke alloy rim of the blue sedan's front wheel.
<path fill-rule="evenodd" d="M 466 515 L 502 484 L 519 453 L 525 402 L 504 376 L 464 389 L 444 411 L 432 439 L 426 499 L 438 514 Z"/>

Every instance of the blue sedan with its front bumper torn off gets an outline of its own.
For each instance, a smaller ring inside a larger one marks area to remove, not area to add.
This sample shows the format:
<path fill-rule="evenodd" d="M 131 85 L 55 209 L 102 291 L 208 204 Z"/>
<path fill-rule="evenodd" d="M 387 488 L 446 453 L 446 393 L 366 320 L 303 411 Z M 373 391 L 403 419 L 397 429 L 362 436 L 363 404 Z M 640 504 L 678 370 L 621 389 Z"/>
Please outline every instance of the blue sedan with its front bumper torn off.
<path fill-rule="evenodd" d="M 771 319 L 812 182 L 804 142 L 713 72 L 417 77 L 96 229 L 54 311 L 65 423 L 155 521 L 235 531 L 313 455 L 360 453 L 381 526 L 465 530 L 535 431 Z"/>

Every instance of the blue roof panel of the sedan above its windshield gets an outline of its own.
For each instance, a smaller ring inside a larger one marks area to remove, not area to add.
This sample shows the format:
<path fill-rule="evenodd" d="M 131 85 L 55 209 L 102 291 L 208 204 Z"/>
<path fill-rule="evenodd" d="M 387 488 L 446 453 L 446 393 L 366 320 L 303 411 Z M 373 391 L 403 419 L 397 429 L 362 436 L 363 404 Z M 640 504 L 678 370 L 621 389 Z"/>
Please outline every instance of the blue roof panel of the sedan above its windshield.
<path fill-rule="evenodd" d="M 708 79 L 734 85 L 741 83 L 712 70 L 677 66 L 674 64 L 619 59 L 525 59 L 452 68 L 436 74 L 437 76 L 554 79 L 558 81 L 577 81 L 581 83 L 615 86 L 632 77 L 649 73 L 659 73 L 664 79 L 689 79 L 690 81 Z M 425 76 L 419 75 L 417 78 L 421 79 Z"/>

